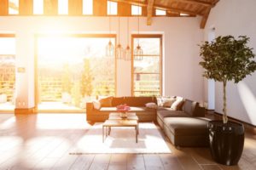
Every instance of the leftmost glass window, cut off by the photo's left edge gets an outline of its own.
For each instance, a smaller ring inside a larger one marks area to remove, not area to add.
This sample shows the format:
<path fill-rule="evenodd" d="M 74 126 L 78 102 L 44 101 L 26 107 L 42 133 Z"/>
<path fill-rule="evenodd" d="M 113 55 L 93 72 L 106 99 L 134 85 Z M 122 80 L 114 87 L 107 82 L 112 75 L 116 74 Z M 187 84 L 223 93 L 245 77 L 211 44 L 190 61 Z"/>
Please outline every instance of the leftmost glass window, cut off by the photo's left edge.
<path fill-rule="evenodd" d="M 0 110 L 15 109 L 15 36 L 0 34 Z"/>

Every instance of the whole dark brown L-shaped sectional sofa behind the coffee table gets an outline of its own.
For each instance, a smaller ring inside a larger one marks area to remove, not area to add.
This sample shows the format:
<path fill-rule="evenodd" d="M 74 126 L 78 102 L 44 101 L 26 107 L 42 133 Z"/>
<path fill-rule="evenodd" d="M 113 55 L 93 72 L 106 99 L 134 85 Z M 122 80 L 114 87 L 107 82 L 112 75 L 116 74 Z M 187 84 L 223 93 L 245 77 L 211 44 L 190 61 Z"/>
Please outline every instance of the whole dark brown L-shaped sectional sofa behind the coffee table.
<path fill-rule="evenodd" d="M 116 106 L 127 104 L 131 112 L 137 113 L 139 122 L 157 122 L 166 136 L 177 146 L 207 146 L 208 131 L 205 117 L 205 108 L 198 102 L 184 99 L 182 111 L 173 111 L 171 108 L 158 107 L 150 109 L 145 105 L 154 102 L 155 97 L 119 97 L 112 99 L 111 107 L 102 107 L 96 110 L 93 103 L 86 104 L 86 119 L 88 122 L 104 122 L 110 112 L 117 112 Z"/>

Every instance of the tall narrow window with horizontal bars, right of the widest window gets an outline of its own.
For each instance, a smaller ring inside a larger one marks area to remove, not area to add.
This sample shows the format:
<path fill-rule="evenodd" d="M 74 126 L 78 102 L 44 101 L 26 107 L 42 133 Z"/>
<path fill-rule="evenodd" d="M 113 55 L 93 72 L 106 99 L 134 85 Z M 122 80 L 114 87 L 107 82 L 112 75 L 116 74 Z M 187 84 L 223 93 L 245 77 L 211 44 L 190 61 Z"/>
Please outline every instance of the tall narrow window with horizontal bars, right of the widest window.
<path fill-rule="evenodd" d="M 138 43 L 143 48 L 143 59 L 135 59 Z M 132 35 L 132 94 L 158 96 L 162 91 L 162 36 Z"/>

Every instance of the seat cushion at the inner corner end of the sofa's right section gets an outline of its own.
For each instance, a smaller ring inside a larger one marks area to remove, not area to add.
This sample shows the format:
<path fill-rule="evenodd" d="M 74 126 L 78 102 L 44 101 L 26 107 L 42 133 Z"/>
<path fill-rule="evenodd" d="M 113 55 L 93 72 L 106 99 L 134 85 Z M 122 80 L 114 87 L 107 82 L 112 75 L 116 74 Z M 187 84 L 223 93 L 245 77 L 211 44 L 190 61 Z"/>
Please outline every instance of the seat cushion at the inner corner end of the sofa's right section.
<path fill-rule="evenodd" d="M 165 117 L 186 117 L 189 115 L 184 111 L 173 111 L 171 108 L 160 108 L 157 111 L 157 116 L 163 121 Z"/>

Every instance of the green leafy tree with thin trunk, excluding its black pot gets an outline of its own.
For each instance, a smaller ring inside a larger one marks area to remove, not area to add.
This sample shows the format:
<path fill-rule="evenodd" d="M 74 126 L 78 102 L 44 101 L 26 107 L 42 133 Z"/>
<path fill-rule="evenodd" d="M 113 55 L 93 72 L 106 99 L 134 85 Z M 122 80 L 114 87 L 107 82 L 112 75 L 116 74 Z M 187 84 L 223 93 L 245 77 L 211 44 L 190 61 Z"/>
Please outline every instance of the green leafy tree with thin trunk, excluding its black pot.
<path fill-rule="evenodd" d="M 228 81 L 240 82 L 247 75 L 256 70 L 253 60 L 253 48 L 247 46 L 249 37 L 233 36 L 217 37 L 212 42 L 203 42 L 200 45 L 202 60 L 200 65 L 205 69 L 203 77 L 223 82 L 224 104 L 223 121 L 228 122 L 226 109 L 226 85 Z"/>

